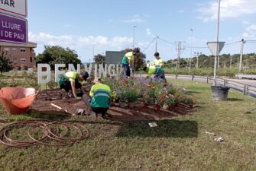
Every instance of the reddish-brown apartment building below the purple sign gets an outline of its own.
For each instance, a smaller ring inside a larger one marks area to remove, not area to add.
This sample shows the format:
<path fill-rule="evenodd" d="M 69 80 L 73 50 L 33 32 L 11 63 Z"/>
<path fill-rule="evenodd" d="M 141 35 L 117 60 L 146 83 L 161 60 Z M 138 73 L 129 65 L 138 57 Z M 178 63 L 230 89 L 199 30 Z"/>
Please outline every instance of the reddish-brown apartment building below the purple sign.
<path fill-rule="evenodd" d="M 28 69 L 35 67 L 36 53 L 34 48 L 37 43 L 28 42 L 28 44 L 17 43 L 3 43 L 0 42 L 0 52 L 6 58 L 10 59 L 14 68 L 20 70 L 21 68 Z"/>

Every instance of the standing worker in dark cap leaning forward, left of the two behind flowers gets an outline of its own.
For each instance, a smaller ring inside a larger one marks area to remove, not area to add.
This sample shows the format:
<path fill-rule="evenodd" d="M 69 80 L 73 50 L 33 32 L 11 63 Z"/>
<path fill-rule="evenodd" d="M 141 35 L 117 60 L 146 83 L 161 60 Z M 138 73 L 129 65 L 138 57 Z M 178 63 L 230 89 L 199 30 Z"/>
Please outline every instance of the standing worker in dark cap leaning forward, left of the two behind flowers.
<path fill-rule="evenodd" d="M 132 52 L 126 53 L 122 59 L 122 65 L 125 68 L 126 78 L 131 77 L 131 69 L 134 68 L 134 58 L 135 56 L 139 56 L 141 54 L 140 51 L 141 50 L 139 48 L 134 48 Z"/>

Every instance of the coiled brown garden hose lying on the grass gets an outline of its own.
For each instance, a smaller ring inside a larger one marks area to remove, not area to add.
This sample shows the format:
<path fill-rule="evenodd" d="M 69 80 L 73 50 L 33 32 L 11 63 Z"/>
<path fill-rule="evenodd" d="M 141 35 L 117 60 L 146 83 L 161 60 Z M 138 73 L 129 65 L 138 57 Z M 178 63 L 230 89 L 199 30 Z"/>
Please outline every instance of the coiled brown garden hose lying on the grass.
<path fill-rule="evenodd" d="M 62 126 L 62 128 L 64 129 L 62 135 L 60 135 L 60 126 Z M 28 138 L 30 138 L 29 141 L 21 141 L 11 138 L 11 131 L 13 131 L 14 128 L 25 127 L 28 127 L 27 131 L 21 134 L 28 135 Z M 42 131 L 44 131 L 44 135 L 42 135 L 41 138 L 34 138 L 34 136 L 31 134 L 31 131 L 34 128 L 40 128 Z M 76 130 L 75 137 L 70 137 L 70 135 L 68 135 L 71 129 Z M 10 147 L 31 147 L 37 144 L 44 144 L 47 146 L 64 146 L 74 144 L 88 137 L 88 129 L 83 125 L 73 122 L 49 122 L 28 120 L 6 125 L 0 130 L 0 143 Z"/>

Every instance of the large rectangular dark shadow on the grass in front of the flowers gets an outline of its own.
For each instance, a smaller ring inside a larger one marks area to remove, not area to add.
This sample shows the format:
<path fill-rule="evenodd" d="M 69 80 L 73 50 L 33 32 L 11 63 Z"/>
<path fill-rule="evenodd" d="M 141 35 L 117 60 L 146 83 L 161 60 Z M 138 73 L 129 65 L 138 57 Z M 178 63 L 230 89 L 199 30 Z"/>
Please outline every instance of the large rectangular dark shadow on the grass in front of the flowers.
<path fill-rule="evenodd" d="M 122 125 L 117 137 L 144 137 L 144 138 L 196 138 L 198 136 L 198 123 L 196 121 L 178 121 L 175 119 L 153 121 L 157 127 L 151 128 L 150 121 L 128 122 Z"/>

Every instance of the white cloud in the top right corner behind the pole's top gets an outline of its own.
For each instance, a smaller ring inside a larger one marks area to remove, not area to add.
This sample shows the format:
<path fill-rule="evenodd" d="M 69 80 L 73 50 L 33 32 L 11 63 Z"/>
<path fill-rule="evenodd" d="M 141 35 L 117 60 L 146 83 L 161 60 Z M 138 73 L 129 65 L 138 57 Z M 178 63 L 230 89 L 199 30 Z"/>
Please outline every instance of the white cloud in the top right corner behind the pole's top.
<path fill-rule="evenodd" d="M 203 21 L 213 21 L 217 19 L 219 2 L 212 1 L 201 4 L 196 11 L 199 12 L 199 19 Z M 222 0 L 221 2 L 221 18 L 241 17 L 247 14 L 256 14 L 255 0 Z"/>

